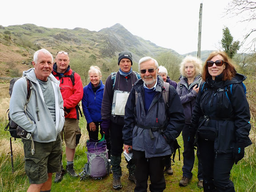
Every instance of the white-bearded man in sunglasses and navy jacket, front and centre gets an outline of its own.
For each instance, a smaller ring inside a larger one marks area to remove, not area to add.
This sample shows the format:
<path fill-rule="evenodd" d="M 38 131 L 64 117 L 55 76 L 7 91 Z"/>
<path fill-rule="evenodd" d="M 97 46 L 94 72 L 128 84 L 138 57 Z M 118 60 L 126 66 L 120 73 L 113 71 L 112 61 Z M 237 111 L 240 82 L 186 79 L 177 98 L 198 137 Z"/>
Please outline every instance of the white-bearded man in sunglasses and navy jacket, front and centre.
<path fill-rule="evenodd" d="M 148 176 L 149 190 L 162 192 L 166 187 L 164 159 L 172 154 L 171 146 L 184 126 L 184 113 L 175 88 L 166 90 L 167 83 L 157 76 L 155 59 L 141 58 L 139 71 L 141 80 L 132 87 L 125 106 L 124 150 L 132 149 L 136 164 L 134 192 L 147 191 Z"/>

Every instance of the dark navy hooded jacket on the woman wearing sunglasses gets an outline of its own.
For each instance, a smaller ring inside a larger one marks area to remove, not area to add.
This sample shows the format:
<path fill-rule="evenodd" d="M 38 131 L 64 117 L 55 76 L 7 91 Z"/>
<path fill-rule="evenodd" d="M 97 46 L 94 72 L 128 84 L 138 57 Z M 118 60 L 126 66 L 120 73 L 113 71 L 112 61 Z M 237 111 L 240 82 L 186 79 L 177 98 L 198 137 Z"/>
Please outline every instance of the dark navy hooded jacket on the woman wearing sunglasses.
<path fill-rule="evenodd" d="M 200 85 L 190 127 L 194 132 L 203 127 L 216 131 L 216 154 L 232 152 L 235 143 L 243 144 L 244 147 L 252 144 L 249 139 L 250 110 L 241 84 L 245 79 L 245 76 L 237 73 L 232 80 L 222 81 L 221 74 L 215 80 L 207 79 L 204 86 L 203 83 Z M 232 95 L 225 91 L 230 84 Z M 204 122 L 204 116 L 208 116 L 209 120 Z"/>

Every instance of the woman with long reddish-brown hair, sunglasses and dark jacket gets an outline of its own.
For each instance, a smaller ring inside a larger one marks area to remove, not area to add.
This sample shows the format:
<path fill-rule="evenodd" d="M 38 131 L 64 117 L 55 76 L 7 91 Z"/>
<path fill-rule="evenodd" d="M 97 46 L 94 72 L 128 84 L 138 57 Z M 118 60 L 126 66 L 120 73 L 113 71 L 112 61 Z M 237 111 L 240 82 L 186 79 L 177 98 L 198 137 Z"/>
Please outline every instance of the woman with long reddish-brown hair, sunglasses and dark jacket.
<path fill-rule="evenodd" d="M 251 125 L 242 82 L 225 52 L 212 52 L 203 68 L 203 80 L 192 114 L 189 142 L 198 144 L 204 192 L 235 192 L 229 179 L 234 163 L 244 157 Z M 196 138 L 195 138 L 196 137 Z"/>

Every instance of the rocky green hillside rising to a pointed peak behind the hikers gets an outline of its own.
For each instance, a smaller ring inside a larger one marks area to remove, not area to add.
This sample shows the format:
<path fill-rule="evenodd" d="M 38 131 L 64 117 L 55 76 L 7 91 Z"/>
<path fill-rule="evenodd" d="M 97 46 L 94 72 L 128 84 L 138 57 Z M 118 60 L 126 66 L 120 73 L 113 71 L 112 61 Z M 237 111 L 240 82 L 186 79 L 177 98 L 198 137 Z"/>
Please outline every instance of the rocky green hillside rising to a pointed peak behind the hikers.
<path fill-rule="evenodd" d="M 38 27 L 34 24 L 0 25 L 0 76 L 8 76 L 8 68 L 19 66 L 20 70 L 31 67 L 35 50 L 46 48 L 55 56 L 65 50 L 71 57 L 94 56 L 97 60 L 108 61 L 119 52 L 132 52 L 135 62 L 142 56 L 157 56 L 161 52 L 177 52 L 134 36 L 120 24 L 99 32 L 84 28 L 60 29 Z"/>

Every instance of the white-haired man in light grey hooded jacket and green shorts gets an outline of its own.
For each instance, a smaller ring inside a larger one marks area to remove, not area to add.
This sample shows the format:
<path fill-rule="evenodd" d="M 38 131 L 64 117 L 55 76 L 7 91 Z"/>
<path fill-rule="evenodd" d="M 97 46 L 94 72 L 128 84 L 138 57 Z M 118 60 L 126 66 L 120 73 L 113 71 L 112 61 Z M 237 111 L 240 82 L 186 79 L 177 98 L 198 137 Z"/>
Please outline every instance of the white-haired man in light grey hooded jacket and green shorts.
<path fill-rule="evenodd" d="M 65 122 L 63 99 L 60 82 L 51 74 L 52 54 L 40 49 L 35 52 L 32 64 L 34 68 L 24 71 L 24 78 L 13 86 L 10 116 L 32 135 L 22 139 L 25 172 L 30 183 L 28 192 L 50 192 L 52 173 L 60 171 L 60 132 Z M 30 80 L 32 89 L 28 103 L 27 80 Z"/>

